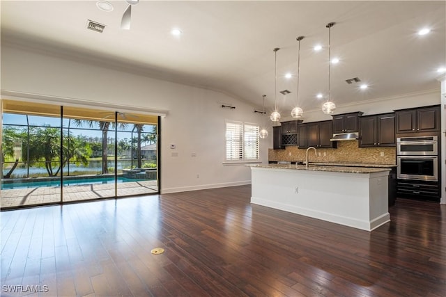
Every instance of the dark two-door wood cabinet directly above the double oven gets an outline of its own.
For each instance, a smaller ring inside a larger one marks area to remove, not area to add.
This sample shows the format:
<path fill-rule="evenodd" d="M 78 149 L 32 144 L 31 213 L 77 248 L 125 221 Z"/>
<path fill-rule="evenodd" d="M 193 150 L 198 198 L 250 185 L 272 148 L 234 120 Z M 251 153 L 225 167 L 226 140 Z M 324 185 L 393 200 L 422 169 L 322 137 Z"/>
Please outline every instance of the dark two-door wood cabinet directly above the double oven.
<path fill-rule="evenodd" d="M 440 106 L 395 111 L 397 134 L 440 131 Z"/>

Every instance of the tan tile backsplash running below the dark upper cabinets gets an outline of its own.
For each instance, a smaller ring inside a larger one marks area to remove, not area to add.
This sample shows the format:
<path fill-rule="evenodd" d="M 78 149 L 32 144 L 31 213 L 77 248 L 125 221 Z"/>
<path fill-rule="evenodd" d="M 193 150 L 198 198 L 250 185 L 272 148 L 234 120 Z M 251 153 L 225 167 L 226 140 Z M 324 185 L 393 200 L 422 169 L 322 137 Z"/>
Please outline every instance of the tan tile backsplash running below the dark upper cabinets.
<path fill-rule="evenodd" d="M 396 164 L 396 147 L 357 147 L 358 141 L 338 141 L 336 149 L 316 149 L 309 152 L 310 162 L 348 162 Z M 307 149 L 296 145 L 287 146 L 285 150 L 268 150 L 269 161 L 305 161 Z"/>

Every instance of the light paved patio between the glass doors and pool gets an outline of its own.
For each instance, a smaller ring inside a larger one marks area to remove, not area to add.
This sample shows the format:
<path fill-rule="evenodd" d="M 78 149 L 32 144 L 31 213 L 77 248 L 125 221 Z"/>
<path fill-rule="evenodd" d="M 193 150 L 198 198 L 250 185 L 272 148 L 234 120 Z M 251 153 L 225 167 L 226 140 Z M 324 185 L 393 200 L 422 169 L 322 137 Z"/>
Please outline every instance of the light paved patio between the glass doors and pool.
<path fill-rule="evenodd" d="M 150 194 L 157 191 L 156 180 L 118 183 L 118 197 Z M 63 186 L 63 202 L 113 197 L 114 184 Z M 61 188 L 59 186 L 4 189 L 0 191 L 0 207 L 2 209 L 53 202 L 61 202 Z"/>

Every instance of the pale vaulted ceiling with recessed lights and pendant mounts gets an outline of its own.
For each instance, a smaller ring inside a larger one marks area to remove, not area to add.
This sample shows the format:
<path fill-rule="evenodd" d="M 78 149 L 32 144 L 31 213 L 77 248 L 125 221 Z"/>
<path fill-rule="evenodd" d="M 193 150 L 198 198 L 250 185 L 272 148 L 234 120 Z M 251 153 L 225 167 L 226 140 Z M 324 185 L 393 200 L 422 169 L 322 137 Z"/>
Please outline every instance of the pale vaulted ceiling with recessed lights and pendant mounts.
<path fill-rule="evenodd" d="M 437 69 L 446 67 L 445 1 L 140 0 L 128 31 L 120 28 L 128 4 L 109 2 L 107 13 L 96 1 L 2 0 L 1 42 L 218 90 L 254 107 L 265 94 L 266 110 L 277 99 L 282 113 L 297 99 L 304 111 L 325 102 L 316 94 L 328 93 L 328 22 L 336 23 L 331 56 L 340 59 L 330 67 L 337 106 L 439 89 Z M 87 19 L 105 24 L 104 32 L 86 29 Z M 424 27 L 431 33 L 418 35 Z M 174 28 L 183 33 L 171 35 Z M 323 49 L 314 51 L 316 44 Z M 361 82 L 346 83 L 353 77 Z M 279 93 L 285 89 L 291 94 Z"/>

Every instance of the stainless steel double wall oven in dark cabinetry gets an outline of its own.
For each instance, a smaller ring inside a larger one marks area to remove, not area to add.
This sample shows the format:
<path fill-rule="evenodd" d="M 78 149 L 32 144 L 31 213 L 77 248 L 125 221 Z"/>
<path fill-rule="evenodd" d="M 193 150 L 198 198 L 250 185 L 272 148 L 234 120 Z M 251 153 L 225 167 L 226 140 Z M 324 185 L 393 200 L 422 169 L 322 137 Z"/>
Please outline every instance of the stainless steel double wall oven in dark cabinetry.
<path fill-rule="evenodd" d="M 438 136 L 397 138 L 397 178 L 438 182 Z"/>

